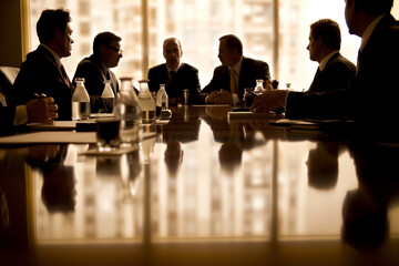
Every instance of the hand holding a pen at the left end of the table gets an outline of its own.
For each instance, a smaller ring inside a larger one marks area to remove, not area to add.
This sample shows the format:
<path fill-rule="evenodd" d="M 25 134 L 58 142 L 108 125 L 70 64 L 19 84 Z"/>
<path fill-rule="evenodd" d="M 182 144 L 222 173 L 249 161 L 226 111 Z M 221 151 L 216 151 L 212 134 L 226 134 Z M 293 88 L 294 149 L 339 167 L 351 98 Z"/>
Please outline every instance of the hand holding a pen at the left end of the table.
<path fill-rule="evenodd" d="M 27 103 L 28 121 L 34 123 L 52 124 L 58 117 L 58 106 L 54 99 L 33 99 Z"/>

